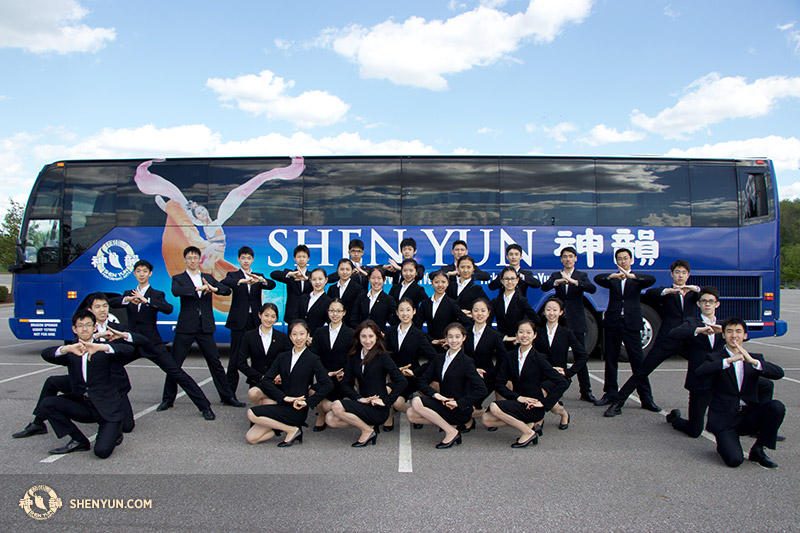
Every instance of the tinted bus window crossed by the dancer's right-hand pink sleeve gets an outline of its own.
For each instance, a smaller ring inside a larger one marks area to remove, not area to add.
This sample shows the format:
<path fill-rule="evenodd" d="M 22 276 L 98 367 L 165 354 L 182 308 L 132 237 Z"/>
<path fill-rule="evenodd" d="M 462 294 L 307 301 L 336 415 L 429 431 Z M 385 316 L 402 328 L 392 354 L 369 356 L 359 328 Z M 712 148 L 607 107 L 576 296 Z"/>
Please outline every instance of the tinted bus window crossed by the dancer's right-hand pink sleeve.
<path fill-rule="evenodd" d="M 221 161 L 209 169 L 209 213 L 228 226 L 302 224 L 303 178 L 288 157 Z M 287 178 L 287 179 L 281 179 Z"/>

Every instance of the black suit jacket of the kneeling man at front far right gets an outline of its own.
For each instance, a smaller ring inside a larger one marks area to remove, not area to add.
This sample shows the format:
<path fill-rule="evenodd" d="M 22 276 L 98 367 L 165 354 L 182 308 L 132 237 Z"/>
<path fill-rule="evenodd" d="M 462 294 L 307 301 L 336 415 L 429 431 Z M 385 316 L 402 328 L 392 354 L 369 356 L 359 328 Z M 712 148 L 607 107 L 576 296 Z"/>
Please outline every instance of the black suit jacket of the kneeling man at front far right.
<path fill-rule="evenodd" d="M 723 369 L 723 360 L 729 357 L 727 350 L 714 352 L 706 356 L 705 362 L 697 369 L 700 377 L 711 377 L 711 403 L 708 406 L 708 423 L 706 429 L 711 433 L 719 433 L 736 423 L 740 401 L 746 405 L 758 405 L 758 378 L 781 379 L 783 369 L 778 365 L 764 361 L 760 353 L 751 353 L 753 359 L 761 361 L 761 370 L 744 363 L 744 379 L 742 390 L 736 380 L 733 365 Z"/>

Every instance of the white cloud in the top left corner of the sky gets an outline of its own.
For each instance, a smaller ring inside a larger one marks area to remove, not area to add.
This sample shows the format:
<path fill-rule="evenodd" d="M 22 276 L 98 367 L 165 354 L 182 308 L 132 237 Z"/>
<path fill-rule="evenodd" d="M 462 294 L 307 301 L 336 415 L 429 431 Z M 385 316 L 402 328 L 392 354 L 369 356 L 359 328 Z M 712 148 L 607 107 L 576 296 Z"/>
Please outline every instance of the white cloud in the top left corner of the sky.
<path fill-rule="evenodd" d="M 114 28 L 81 24 L 88 13 L 75 0 L 0 0 L 0 48 L 95 53 L 117 34 Z"/>

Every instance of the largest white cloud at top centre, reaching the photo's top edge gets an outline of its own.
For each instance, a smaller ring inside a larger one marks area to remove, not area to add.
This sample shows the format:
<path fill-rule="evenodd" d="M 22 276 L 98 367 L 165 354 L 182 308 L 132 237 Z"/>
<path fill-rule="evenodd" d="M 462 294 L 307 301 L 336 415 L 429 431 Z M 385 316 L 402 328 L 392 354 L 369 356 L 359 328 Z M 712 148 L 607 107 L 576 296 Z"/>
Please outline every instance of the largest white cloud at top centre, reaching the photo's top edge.
<path fill-rule="evenodd" d="M 447 89 L 445 75 L 491 65 L 527 40 L 552 42 L 564 26 L 583 21 L 591 5 L 592 0 L 531 0 L 526 11 L 513 15 L 481 5 L 444 21 L 410 17 L 371 28 L 328 28 L 317 44 L 357 63 L 363 78 L 440 91 Z"/>

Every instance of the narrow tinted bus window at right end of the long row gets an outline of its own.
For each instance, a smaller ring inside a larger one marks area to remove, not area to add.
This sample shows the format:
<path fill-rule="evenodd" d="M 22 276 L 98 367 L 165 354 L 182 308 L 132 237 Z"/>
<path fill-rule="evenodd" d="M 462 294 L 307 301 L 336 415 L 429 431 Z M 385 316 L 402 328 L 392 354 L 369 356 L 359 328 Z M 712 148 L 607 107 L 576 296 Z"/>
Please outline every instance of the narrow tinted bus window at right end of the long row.
<path fill-rule="evenodd" d="M 736 171 L 731 165 L 692 165 L 692 226 L 735 227 Z"/>

